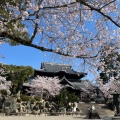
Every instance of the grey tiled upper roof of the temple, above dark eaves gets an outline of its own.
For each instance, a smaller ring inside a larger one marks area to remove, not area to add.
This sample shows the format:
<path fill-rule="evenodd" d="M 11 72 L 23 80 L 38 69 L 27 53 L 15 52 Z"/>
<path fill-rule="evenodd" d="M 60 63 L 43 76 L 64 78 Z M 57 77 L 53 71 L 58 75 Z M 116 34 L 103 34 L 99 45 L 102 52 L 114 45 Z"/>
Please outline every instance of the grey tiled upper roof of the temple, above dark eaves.
<path fill-rule="evenodd" d="M 82 72 L 76 72 L 72 69 L 71 65 L 68 64 L 56 64 L 56 63 L 42 63 L 41 64 L 41 70 L 46 72 L 60 72 L 64 71 L 69 74 L 83 74 L 86 75 L 86 73 Z"/>

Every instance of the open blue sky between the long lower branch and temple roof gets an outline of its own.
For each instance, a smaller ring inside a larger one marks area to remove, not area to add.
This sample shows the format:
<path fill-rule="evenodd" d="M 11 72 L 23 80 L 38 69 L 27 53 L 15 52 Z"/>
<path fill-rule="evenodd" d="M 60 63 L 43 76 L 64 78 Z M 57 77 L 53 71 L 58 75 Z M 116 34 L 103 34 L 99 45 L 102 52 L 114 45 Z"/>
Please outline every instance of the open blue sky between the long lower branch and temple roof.
<path fill-rule="evenodd" d="M 54 60 L 51 59 L 52 53 L 41 52 L 40 50 L 37 50 L 35 48 L 23 45 L 19 46 L 10 46 L 8 44 L 0 45 L 0 53 L 5 57 L 0 58 L 0 62 L 9 65 L 32 66 L 35 69 L 39 69 L 42 62 L 54 62 Z M 45 54 L 47 56 L 45 56 Z M 57 63 L 60 63 L 59 59 L 57 60 Z M 77 66 L 72 64 L 72 67 L 74 70 L 77 71 Z M 88 73 L 85 79 L 93 80 L 94 75 Z"/>

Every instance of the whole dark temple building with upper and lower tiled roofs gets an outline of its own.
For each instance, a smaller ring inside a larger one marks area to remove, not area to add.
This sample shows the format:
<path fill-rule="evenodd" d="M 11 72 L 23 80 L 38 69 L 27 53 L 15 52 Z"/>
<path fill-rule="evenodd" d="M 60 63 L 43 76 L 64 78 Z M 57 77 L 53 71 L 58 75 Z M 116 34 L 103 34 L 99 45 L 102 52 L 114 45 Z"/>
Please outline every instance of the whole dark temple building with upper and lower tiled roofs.
<path fill-rule="evenodd" d="M 95 91 L 95 87 L 88 80 L 81 80 L 87 75 L 87 73 L 77 72 L 72 69 L 68 64 L 56 64 L 56 63 L 42 63 L 39 70 L 34 70 L 34 77 L 46 76 L 46 77 L 58 77 L 60 83 L 71 92 L 75 92 L 77 95 L 92 95 Z M 32 80 L 33 77 L 30 78 Z M 24 86 L 27 86 L 25 83 Z"/>

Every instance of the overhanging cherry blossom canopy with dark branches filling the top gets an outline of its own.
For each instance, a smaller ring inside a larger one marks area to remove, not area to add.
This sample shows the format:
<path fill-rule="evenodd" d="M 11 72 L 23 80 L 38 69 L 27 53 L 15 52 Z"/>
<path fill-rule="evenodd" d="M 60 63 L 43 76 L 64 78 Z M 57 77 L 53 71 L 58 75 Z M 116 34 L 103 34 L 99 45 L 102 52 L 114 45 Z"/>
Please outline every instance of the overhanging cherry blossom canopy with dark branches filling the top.
<path fill-rule="evenodd" d="M 0 41 L 79 58 L 89 69 L 97 68 L 102 46 L 112 42 L 120 49 L 119 2 L 2 0 Z"/>

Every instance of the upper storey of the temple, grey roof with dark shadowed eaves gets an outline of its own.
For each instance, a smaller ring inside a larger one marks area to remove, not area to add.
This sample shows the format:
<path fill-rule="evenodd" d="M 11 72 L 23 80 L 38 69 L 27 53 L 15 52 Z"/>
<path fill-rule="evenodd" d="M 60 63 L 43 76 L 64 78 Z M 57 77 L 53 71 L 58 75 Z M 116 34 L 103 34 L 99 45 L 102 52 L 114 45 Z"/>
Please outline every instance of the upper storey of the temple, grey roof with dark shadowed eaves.
<path fill-rule="evenodd" d="M 79 80 L 85 77 L 87 73 L 76 72 L 72 69 L 71 65 L 67 64 L 42 63 L 41 69 L 35 70 L 35 76 L 37 75 Z"/>

